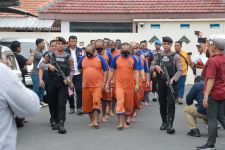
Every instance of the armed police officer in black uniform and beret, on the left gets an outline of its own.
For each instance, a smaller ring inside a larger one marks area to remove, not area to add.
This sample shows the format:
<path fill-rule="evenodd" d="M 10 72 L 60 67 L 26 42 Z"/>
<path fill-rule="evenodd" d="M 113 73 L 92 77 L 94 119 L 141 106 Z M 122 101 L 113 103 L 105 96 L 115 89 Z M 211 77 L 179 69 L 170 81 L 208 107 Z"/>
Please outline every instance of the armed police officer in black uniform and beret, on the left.
<path fill-rule="evenodd" d="M 64 52 L 66 40 L 63 37 L 56 38 L 56 52 L 50 53 L 51 64 L 57 71 L 50 71 L 51 82 L 49 83 L 49 97 L 52 103 L 51 118 L 56 122 L 52 127 L 60 134 L 66 134 L 64 122 L 66 120 L 66 102 L 68 97 L 68 86 L 73 87 L 70 72 L 73 60 L 70 54 Z"/>

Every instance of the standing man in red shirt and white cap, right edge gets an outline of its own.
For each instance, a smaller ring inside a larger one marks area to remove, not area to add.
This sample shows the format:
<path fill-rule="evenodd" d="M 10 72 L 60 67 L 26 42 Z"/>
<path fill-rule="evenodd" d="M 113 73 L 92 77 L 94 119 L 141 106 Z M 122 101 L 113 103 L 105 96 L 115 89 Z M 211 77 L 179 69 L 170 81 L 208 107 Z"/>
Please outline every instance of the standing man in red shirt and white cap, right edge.
<path fill-rule="evenodd" d="M 210 38 L 208 51 L 211 57 L 203 70 L 205 78 L 203 105 L 207 108 L 208 140 L 197 150 L 215 150 L 217 120 L 225 128 L 225 35 Z"/>

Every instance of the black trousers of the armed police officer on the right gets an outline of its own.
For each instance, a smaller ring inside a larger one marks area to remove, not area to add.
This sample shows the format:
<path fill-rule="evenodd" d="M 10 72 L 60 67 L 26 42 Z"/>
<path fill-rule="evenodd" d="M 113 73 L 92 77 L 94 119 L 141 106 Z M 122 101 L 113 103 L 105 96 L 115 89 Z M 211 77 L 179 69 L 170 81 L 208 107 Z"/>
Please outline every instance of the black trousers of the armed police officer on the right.
<path fill-rule="evenodd" d="M 158 83 L 158 95 L 160 105 L 160 115 L 163 122 L 166 122 L 168 118 L 174 120 L 175 117 L 175 102 L 172 98 L 171 92 L 166 84 L 165 79 L 159 78 Z M 174 85 L 175 89 L 175 85 Z"/>

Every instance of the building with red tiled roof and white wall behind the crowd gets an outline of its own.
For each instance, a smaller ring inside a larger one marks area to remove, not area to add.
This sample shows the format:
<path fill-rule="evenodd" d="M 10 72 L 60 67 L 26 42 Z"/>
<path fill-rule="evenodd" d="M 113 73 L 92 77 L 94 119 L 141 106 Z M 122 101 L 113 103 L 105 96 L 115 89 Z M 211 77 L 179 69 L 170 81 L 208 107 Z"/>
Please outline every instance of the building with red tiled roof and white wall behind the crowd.
<path fill-rule="evenodd" d="M 183 38 L 183 49 L 197 54 L 197 37 L 225 34 L 224 0 L 46 0 L 38 8 L 39 19 L 54 20 L 61 33 L 6 33 L 1 37 L 44 37 L 51 40 L 61 35 L 78 37 L 83 47 L 92 39 L 105 38 L 122 41 L 151 41 L 153 37 L 171 36 L 174 41 Z M 154 41 L 154 40 L 153 40 Z M 149 44 L 153 49 L 154 45 Z M 193 82 L 189 69 L 187 83 Z"/>

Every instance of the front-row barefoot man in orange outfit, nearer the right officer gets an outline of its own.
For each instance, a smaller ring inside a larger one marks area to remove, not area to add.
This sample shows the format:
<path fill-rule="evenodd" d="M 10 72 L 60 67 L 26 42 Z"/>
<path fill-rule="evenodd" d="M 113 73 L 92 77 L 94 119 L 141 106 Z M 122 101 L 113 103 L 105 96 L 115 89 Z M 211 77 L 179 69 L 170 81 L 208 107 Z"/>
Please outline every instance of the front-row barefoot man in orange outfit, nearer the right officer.
<path fill-rule="evenodd" d="M 116 56 L 112 61 L 110 74 L 105 86 L 106 91 L 109 92 L 109 85 L 115 73 L 116 114 L 118 115 L 119 130 L 128 127 L 126 124 L 127 119 L 133 114 L 134 92 L 139 90 L 138 70 L 137 60 L 130 54 L 130 45 L 123 43 L 121 55 Z"/>

